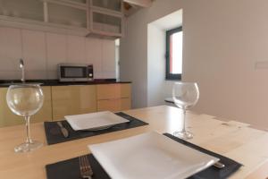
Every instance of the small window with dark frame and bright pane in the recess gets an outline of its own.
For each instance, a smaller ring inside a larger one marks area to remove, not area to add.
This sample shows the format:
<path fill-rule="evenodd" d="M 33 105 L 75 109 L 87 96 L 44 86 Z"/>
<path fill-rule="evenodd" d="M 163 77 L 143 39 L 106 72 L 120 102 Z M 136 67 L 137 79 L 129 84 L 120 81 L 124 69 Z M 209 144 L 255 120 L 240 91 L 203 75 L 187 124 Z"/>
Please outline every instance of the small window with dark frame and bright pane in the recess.
<path fill-rule="evenodd" d="M 166 31 L 166 80 L 181 80 L 182 27 Z"/>

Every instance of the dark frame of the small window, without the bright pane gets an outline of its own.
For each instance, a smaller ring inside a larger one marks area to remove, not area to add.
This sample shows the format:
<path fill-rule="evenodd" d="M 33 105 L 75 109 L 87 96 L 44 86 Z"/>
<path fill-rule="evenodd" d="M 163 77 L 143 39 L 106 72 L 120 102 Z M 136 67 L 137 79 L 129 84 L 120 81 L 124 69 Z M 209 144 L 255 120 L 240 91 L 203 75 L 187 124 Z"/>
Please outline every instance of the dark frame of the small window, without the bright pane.
<path fill-rule="evenodd" d="M 171 47 L 171 41 L 170 41 L 170 37 L 172 36 L 172 34 L 176 33 L 176 32 L 180 32 L 182 31 L 182 26 L 178 27 L 178 28 L 174 28 L 172 30 L 167 30 L 166 31 L 166 50 L 165 50 L 165 80 L 167 81 L 181 81 L 181 73 L 179 74 L 172 74 L 170 71 L 170 65 L 171 65 L 171 59 L 170 59 L 170 47 Z"/>

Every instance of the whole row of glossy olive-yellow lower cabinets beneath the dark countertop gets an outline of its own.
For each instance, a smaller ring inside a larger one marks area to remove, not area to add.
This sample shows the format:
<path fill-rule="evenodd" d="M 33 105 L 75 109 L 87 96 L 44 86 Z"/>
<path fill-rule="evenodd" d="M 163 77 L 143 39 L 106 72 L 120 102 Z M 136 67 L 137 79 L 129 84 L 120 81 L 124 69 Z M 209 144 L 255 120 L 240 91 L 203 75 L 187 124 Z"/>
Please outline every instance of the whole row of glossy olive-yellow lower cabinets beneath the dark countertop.
<path fill-rule="evenodd" d="M 0 127 L 24 124 L 6 104 L 6 91 L 0 88 Z M 130 84 L 69 85 L 42 87 L 43 107 L 30 119 L 31 123 L 63 120 L 65 115 L 96 111 L 121 111 L 131 108 Z"/>

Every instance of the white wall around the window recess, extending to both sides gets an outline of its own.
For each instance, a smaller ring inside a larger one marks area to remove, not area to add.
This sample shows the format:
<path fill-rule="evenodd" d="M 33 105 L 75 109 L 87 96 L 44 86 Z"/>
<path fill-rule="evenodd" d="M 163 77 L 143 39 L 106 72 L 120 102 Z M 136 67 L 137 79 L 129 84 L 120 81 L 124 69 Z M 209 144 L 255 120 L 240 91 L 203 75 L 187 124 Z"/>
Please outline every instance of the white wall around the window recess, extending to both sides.
<path fill-rule="evenodd" d="M 266 0 L 156 0 L 131 16 L 121 40 L 121 79 L 133 81 L 133 106 L 147 106 L 147 23 L 180 8 L 182 78 L 199 84 L 195 110 L 268 128 Z"/>

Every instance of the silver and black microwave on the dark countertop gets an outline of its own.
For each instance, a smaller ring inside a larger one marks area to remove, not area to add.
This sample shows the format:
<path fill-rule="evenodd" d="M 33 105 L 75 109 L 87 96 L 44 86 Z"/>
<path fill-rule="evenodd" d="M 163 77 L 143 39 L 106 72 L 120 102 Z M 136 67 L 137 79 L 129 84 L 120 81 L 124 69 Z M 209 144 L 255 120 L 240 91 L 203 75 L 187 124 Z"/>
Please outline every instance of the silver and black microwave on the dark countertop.
<path fill-rule="evenodd" d="M 93 81 L 92 64 L 58 64 L 59 81 Z"/>

